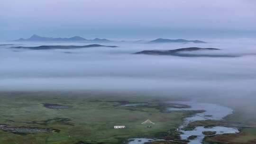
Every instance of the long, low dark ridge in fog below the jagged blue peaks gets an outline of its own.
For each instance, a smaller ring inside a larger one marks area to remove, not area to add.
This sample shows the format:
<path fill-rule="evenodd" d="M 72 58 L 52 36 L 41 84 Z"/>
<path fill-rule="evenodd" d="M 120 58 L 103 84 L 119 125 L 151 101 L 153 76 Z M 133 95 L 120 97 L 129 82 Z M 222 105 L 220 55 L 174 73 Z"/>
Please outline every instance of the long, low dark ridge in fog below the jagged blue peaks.
<path fill-rule="evenodd" d="M 10 48 L 30 49 L 30 50 L 49 50 L 49 49 L 76 49 L 89 47 L 118 47 L 108 45 L 41 45 L 41 46 L 12 46 Z"/>

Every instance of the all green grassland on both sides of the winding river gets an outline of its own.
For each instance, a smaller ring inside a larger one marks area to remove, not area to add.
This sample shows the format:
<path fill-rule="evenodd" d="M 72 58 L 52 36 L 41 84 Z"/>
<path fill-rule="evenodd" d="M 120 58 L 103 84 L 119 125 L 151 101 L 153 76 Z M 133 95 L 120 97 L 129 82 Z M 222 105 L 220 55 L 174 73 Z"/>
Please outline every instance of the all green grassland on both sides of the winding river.
<path fill-rule="evenodd" d="M 92 94 L 93 93 L 93 94 Z M 0 92 L 0 125 L 57 129 L 56 133 L 14 134 L 0 129 L 0 144 L 123 144 L 129 138 L 148 137 L 178 140 L 176 131 L 196 111 L 165 112 L 166 97 L 94 92 Z M 72 106 L 50 109 L 43 103 Z M 124 103 L 147 103 L 121 107 Z M 197 111 L 198 112 L 198 111 Z M 155 125 L 142 125 L 150 119 Z M 113 126 L 125 125 L 125 129 Z M 205 144 L 256 144 L 256 115 L 235 109 L 222 121 L 197 121 L 187 127 L 237 127 L 238 134 L 208 136 Z M 148 144 L 176 144 L 157 141 Z"/>

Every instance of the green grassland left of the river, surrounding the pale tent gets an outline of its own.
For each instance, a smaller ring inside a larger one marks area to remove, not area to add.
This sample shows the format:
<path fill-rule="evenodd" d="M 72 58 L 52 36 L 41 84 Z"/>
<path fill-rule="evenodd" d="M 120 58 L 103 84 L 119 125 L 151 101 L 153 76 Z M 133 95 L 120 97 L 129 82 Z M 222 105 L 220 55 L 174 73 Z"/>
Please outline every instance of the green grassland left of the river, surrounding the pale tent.
<path fill-rule="evenodd" d="M 128 138 L 153 137 L 175 131 L 184 117 L 192 113 L 161 112 L 155 98 L 134 96 L 97 96 L 88 93 L 1 92 L 0 124 L 53 128 L 59 133 L 18 135 L 0 130 L 0 144 L 120 144 Z M 119 107 L 119 100 L 147 102 L 147 107 Z M 73 106 L 49 109 L 42 103 Z M 65 118 L 54 120 L 56 118 Z M 150 119 L 148 128 L 141 123 Z M 113 126 L 125 125 L 126 129 Z"/>

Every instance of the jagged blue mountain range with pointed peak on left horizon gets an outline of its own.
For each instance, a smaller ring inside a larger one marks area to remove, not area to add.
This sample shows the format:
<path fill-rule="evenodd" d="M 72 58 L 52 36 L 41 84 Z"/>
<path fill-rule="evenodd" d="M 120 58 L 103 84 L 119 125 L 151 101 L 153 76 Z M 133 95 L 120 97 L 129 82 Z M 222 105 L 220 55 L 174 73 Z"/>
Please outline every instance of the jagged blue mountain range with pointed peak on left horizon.
<path fill-rule="evenodd" d="M 101 39 L 101 38 L 95 38 L 95 39 L 85 39 L 83 37 L 80 37 L 80 36 L 73 36 L 73 37 L 70 37 L 70 38 L 61 38 L 61 37 L 58 37 L 58 38 L 54 38 L 54 37 L 43 37 L 43 36 L 37 36 L 37 35 L 33 35 L 29 38 L 19 38 L 17 40 L 14 40 L 16 42 L 27 42 L 27 41 L 30 41 L 30 42 L 38 42 L 38 41 L 64 41 L 64 42 L 75 42 L 75 41 L 83 41 L 83 42 L 91 42 L 91 43 L 108 43 L 108 42 L 111 42 L 110 40 L 108 39 Z"/>

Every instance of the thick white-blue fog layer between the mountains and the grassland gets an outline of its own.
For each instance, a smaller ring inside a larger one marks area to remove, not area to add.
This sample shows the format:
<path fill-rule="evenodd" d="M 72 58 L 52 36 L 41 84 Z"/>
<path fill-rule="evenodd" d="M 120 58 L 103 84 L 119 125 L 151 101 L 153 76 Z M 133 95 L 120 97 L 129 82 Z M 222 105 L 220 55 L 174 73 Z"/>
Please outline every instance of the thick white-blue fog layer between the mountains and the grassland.
<path fill-rule="evenodd" d="M 22 50 L 0 46 L 0 91 L 140 91 L 155 96 L 244 99 L 256 96 L 256 41 L 207 40 L 207 44 L 122 44 L 119 48 Z M 21 43 L 15 46 L 84 45 Z M 178 57 L 132 54 L 142 50 L 213 47 L 241 57 Z M 250 54 L 250 55 L 247 55 Z"/>

